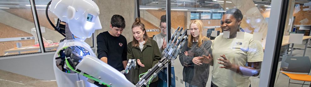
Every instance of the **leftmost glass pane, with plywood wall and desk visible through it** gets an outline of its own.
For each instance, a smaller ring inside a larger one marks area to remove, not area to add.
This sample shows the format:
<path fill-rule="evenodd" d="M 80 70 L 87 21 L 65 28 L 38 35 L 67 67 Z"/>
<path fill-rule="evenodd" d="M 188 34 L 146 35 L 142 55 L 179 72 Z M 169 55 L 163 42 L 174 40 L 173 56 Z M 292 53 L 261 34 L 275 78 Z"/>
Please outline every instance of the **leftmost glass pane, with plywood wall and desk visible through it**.
<path fill-rule="evenodd" d="M 41 53 L 30 1 L 1 2 L 0 57 Z"/>

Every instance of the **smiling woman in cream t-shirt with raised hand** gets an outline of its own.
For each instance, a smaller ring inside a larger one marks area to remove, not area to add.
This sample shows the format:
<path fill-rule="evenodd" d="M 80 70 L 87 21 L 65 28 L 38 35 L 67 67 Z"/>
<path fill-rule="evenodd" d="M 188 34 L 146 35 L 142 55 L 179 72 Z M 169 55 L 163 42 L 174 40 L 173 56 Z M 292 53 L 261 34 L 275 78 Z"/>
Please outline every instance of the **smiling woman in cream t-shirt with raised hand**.
<path fill-rule="evenodd" d="M 219 35 L 213 41 L 213 71 L 211 87 L 248 87 L 250 76 L 258 76 L 263 60 L 263 48 L 253 34 L 245 33 L 237 39 L 243 15 L 238 9 L 229 9 L 221 18 L 221 29 L 230 31 L 229 38 Z"/>

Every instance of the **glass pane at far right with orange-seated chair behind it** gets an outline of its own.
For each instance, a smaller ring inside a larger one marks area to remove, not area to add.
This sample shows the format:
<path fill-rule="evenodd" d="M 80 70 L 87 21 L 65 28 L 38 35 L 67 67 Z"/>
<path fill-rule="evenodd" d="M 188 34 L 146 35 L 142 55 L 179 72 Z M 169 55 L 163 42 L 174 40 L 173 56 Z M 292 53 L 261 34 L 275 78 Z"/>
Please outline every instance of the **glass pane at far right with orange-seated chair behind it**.
<path fill-rule="evenodd" d="M 275 87 L 310 87 L 310 1 L 289 0 L 284 19 L 280 56 L 274 61 L 277 66 L 271 77 Z"/>

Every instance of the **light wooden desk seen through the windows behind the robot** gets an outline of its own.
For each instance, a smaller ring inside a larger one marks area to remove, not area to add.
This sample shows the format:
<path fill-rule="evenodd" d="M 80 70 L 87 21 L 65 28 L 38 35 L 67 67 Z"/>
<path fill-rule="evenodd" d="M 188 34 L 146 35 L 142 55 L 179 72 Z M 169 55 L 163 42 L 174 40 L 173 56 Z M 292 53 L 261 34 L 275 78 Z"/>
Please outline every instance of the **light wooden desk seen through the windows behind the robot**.
<path fill-rule="evenodd" d="M 52 46 L 45 46 L 46 49 L 54 49 L 57 48 L 58 44 L 52 45 Z M 20 52 L 22 51 L 31 51 L 31 50 L 40 50 L 40 46 L 23 46 L 21 48 L 11 48 L 8 50 L 4 51 L 4 56 L 7 55 L 8 53 L 14 53 L 14 52 L 18 52 L 20 54 Z"/>

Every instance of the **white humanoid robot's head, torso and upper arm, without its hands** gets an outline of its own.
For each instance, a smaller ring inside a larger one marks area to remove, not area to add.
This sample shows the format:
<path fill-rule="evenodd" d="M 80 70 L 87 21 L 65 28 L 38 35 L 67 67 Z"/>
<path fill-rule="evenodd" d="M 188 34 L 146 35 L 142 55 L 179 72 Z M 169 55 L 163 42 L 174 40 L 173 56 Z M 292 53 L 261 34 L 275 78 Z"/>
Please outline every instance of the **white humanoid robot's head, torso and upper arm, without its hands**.
<path fill-rule="evenodd" d="M 66 22 L 67 40 L 59 43 L 53 59 L 58 87 L 135 86 L 121 72 L 98 59 L 84 42 L 95 30 L 101 29 L 99 8 L 95 2 L 53 0 L 49 4 L 50 11 Z"/>

